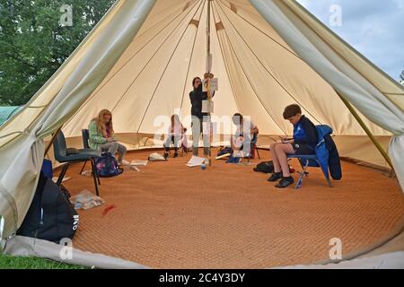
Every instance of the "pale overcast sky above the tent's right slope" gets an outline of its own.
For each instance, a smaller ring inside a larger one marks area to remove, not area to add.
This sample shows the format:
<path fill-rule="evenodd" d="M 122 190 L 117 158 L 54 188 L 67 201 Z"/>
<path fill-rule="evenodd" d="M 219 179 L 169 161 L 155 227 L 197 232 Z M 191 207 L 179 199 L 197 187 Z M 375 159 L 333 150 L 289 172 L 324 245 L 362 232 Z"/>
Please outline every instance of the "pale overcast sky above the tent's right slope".
<path fill-rule="evenodd" d="M 331 30 L 395 80 L 404 70 L 404 0 L 298 0 Z M 330 6 L 341 7 L 342 25 L 330 25 Z"/>

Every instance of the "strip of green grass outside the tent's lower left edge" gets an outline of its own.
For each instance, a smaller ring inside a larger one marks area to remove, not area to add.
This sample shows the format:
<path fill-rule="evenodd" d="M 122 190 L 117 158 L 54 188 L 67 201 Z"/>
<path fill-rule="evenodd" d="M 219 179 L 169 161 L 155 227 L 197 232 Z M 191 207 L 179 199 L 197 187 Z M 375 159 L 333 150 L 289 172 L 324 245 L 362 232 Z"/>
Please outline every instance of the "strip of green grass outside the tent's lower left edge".
<path fill-rule="evenodd" d="M 9 257 L 0 254 L 0 269 L 86 269 L 36 257 Z"/>

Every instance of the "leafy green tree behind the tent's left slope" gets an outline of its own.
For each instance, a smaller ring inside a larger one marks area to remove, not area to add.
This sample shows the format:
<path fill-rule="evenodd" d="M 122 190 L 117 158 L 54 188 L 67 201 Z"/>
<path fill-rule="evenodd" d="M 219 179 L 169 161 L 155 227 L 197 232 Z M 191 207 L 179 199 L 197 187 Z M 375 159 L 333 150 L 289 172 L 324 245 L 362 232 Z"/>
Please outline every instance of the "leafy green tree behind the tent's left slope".
<path fill-rule="evenodd" d="M 115 0 L 2 0 L 0 105 L 20 106 L 40 90 Z M 73 25 L 62 26 L 72 7 Z"/>

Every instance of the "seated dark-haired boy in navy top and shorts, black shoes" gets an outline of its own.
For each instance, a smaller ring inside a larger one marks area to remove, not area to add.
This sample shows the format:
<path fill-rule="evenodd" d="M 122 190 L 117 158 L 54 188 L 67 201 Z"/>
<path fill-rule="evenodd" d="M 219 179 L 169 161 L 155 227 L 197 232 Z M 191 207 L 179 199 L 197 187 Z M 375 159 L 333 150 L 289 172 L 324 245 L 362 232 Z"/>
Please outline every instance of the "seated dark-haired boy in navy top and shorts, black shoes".
<path fill-rule="evenodd" d="M 281 179 L 275 186 L 278 188 L 285 188 L 294 183 L 294 178 L 289 172 L 287 154 L 314 154 L 317 144 L 316 128 L 310 119 L 302 115 L 302 109 L 298 105 L 287 106 L 284 118 L 294 125 L 294 138 L 293 140 L 283 139 L 282 143 L 272 143 L 270 146 L 274 173 L 268 181 L 275 182 Z"/>

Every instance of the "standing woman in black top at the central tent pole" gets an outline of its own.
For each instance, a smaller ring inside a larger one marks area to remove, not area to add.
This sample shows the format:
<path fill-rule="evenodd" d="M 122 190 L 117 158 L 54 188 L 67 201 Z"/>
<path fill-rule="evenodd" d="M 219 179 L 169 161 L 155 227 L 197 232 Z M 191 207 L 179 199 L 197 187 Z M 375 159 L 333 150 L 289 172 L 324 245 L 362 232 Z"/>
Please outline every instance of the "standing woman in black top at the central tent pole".
<path fill-rule="evenodd" d="M 213 74 L 210 75 L 213 77 Z M 206 74 L 206 77 L 207 76 L 208 75 Z M 194 78 L 192 80 L 192 86 L 194 90 L 189 92 L 189 100 L 192 105 L 191 108 L 192 141 L 193 141 L 192 153 L 198 156 L 199 138 L 200 134 L 203 133 L 202 123 L 204 121 L 207 122 L 209 114 L 202 113 L 202 100 L 207 100 L 207 92 L 202 91 L 202 80 L 199 77 Z M 207 157 L 209 155 L 209 149 L 210 149 L 209 136 L 203 135 L 203 140 L 204 140 L 204 155 Z"/>

